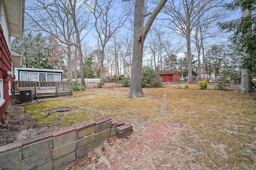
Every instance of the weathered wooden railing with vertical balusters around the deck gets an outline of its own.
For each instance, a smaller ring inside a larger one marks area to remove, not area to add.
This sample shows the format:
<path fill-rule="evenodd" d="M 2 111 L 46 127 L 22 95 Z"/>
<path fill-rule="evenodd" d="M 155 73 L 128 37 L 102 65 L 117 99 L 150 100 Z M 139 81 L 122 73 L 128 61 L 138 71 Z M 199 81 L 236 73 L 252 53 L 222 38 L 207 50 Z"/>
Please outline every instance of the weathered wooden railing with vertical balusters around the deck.
<path fill-rule="evenodd" d="M 20 90 L 32 89 L 33 93 L 36 90 L 56 90 L 72 91 L 72 82 L 34 82 L 34 81 L 14 81 L 14 93 L 19 93 Z"/>

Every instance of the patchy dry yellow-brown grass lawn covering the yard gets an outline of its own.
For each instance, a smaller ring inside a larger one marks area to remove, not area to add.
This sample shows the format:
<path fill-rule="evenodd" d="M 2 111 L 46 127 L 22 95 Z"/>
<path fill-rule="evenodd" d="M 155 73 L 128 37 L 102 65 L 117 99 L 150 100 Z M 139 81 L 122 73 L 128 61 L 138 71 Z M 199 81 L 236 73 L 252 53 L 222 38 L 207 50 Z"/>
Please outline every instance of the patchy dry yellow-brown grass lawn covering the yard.
<path fill-rule="evenodd" d="M 131 123 L 134 134 L 108 147 L 108 156 L 99 159 L 105 163 L 121 142 L 139 137 L 150 124 L 174 120 L 183 125 L 168 145 L 150 150 L 128 169 L 256 169 L 256 94 L 198 90 L 196 85 L 184 89 L 184 84 L 178 84 L 145 88 L 145 98 L 130 99 L 126 98 L 128 88 L 108 86 L 44 99 L 26 106 L 25 111 L 42 126 L 64 127 L 102 115 Z M 168 118 L 159 118 L 165 92 Z M 54 111 L 60 107 L 70 107 L 70 111 Z"/>

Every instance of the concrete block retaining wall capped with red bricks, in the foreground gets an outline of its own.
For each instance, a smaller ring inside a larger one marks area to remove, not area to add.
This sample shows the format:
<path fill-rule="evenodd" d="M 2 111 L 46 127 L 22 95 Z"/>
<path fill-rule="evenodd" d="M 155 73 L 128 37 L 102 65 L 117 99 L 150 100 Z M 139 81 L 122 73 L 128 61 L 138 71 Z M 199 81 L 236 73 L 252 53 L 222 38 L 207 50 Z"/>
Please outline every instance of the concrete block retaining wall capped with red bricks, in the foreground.
<path fill-rule="evenodd" d="M 0 147 L 0 170 L 63 170 L 117 134 L 101 117 Z"/>

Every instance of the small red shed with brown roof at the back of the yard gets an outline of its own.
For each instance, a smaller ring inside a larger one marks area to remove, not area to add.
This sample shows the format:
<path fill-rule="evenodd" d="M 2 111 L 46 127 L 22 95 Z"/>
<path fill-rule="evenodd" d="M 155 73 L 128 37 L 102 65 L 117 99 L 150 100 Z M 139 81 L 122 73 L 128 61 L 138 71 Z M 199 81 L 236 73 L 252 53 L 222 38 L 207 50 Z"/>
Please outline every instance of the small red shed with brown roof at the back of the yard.
<path fill-rule="evenodd" d="M 180 72 L 178 70 L 158 71 L 164 84 L 180 83 Z"/>

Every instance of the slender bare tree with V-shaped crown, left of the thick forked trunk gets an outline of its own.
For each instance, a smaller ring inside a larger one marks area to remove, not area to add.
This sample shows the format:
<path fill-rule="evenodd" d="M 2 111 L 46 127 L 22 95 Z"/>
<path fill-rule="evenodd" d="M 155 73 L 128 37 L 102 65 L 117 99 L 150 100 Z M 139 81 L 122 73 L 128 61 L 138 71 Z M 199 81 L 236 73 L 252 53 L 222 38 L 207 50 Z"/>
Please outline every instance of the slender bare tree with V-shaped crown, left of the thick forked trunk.
<path fill-rule="evenodd" d="M 117 0 L 94 0 L 88 4 L 90 12 L 93 14 L 95 22 L 94 28 L 100 43 L 100 85 L 104 84 L 104 50 L 112 35 L 124 25 L 128 18 L 128 13 L 124 10 L 119 16 L 115 12 Z"/>

